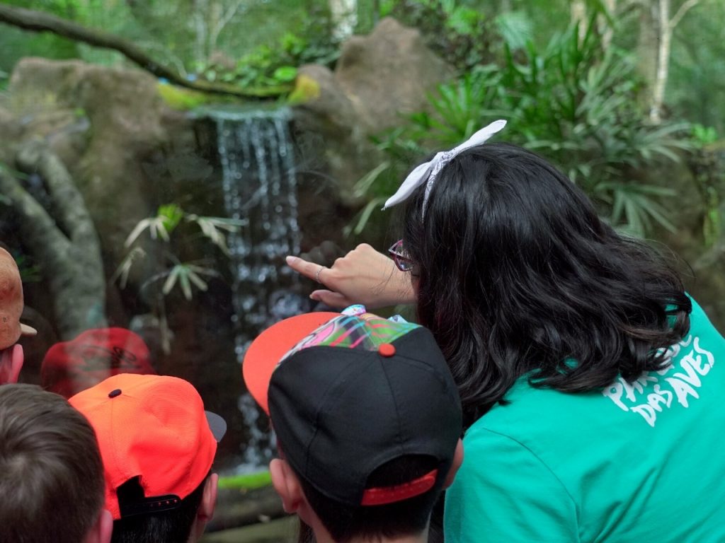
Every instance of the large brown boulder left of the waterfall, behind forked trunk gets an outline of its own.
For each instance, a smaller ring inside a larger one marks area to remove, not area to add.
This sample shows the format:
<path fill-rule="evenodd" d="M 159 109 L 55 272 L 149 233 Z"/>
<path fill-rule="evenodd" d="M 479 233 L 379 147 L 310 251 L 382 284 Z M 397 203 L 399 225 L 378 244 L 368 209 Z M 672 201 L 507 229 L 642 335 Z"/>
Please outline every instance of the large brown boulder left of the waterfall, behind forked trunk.
<path fill-rule="evenodd" d="M 104 250 L 117 261 L 123 239 L 149 215 L 149 185 L 142 164 L 167 140 L 167 108 L 154 77 L 80 61 L 22 59 L 12 72 L 9 110 L 22 133 L 42 137 L 67 164 Z"/>

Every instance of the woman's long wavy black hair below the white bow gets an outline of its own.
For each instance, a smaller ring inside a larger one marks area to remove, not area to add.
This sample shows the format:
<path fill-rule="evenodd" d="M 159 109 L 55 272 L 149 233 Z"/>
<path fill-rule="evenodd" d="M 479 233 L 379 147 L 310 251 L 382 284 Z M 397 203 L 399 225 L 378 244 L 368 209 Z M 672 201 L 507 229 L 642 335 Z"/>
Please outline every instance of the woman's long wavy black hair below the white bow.
<path fill-rule="evenodd" d="M 405 209 L 418 319 L 452 370 L 470 426 L 523 375 L 581 392 L 661 369 L 692 304 L 648 245 L 602 222 L 586 195 L 534 153 L 471 148 Z"/>

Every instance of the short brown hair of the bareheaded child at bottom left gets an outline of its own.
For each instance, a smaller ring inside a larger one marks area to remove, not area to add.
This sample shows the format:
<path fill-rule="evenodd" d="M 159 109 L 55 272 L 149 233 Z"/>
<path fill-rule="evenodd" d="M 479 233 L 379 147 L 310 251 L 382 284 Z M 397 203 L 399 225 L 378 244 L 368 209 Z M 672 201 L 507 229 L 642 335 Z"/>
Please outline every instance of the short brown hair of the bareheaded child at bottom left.
<path fill-rule="evenodd" d="M 1 543 L 108 541 L 96 434 L 63 397 L 0 386 L 0 474 Z"/>

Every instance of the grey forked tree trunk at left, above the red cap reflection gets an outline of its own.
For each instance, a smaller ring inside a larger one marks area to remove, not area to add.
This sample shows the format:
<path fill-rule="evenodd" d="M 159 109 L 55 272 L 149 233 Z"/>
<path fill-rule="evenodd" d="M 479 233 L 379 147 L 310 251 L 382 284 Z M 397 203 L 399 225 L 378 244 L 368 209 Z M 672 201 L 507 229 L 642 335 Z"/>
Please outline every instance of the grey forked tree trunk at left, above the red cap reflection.
<path fill-rule="evenodd" d="M 22 146 L 17 167 L 40 175 L 51 198 L 54 216 L 12 175 L 0 172 L 0 191 L 20 216 L 22 240 L 43 266 L 62 339 L 106 326 L 101 248 L 83 197 L 65 165 L 45 143 L 32 141 Z"/>

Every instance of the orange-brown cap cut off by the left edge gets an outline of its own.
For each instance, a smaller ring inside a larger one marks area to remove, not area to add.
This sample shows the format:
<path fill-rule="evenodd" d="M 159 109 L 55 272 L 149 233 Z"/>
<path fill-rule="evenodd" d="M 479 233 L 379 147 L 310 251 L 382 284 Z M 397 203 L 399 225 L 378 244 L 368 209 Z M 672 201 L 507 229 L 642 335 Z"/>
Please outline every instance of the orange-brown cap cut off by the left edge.
<path fill-rule="evenodd" d="M 34 336 L 37 332 L 27 324 L 20 324 L 22 313 L 22 280 L 12 255 L 0 248 L 0 349 L 7 349 L 21 335 Z"/>

